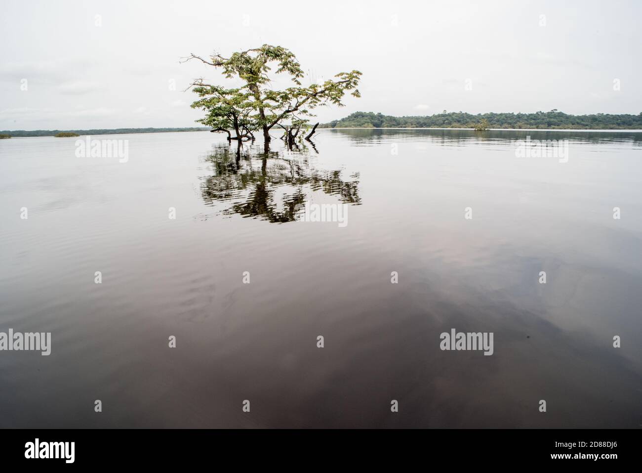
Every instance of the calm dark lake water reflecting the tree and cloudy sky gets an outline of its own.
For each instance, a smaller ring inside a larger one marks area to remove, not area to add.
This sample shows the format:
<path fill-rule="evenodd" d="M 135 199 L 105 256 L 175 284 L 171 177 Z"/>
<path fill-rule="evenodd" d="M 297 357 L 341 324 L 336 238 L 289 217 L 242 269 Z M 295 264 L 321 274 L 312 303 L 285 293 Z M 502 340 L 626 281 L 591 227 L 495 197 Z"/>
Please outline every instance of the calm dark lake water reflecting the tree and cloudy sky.
<path fill-rule="evenodd" d="M 642 425 L 642 133 L 96 138 L 128 162 L 0 141 L 0 332 L 52 334 L 0 352 L 0 427 Z M 309 199 L 347 226 L 294 220 Z"/>

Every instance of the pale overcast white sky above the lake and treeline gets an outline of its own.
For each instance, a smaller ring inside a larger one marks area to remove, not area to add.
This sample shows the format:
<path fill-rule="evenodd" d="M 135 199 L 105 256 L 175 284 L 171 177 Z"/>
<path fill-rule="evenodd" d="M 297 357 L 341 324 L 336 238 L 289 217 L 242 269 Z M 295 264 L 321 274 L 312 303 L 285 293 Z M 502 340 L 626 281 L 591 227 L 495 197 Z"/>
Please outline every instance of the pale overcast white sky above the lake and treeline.
<path fill-rule="evenodd" d="M 355 111 L 639 114 L 640 17 L 637 0 L 3 0 L 0 130 L 200 126 L 193 79 L 238 84 L 180 58 L 261 44 L 293 51 L 308 84 L 363 73 L 361 98 L 317 109 L 322 123 Z"/>

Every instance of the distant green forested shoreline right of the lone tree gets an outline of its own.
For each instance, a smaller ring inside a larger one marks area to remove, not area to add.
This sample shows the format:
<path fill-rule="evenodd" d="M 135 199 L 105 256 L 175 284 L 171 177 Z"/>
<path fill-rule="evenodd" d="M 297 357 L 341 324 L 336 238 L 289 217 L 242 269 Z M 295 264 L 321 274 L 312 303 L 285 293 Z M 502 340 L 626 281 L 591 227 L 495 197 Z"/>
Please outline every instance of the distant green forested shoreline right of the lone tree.
<path fill-rule="evenodd" d="M 390 116 L 373 112 L 354 112 L 319 128 L 475 128 L 482 120 L 488 128 L 625 130 L 642 129 L 638 115 L 569 115 L 557 110 L 535 113 L 444 112 L 429 116 Z"/>

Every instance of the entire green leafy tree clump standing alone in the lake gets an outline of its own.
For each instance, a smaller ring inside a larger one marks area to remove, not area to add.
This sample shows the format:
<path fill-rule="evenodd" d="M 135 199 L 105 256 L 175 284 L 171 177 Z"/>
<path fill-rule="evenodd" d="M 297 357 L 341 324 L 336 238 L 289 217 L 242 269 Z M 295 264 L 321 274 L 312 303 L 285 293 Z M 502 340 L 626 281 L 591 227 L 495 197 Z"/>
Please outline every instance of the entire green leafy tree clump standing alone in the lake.
<path fill-rule="evenodd" d="M 198 121 L 227 132 L 234 129 L 239 140 L 252 138 L 252 132 L 261 129 L 267 145 L 272 139 L 270 130 L 283 121 L 297 123 L 300 128 L 314 116 L 311 110 L 319 105 L 342 107 L 342 98 L 348 91 L 352 96 L 361 96 L 357 89 L 361 77 L 359 71 L 338 73 L 334 80 L 326 80 L 323 84 L 302 86 L 300 79 L 304 73 L 297 58 L 281 46 L 264 44 L 260 48 L 233 53 L 229 58 L 214 54 L 209 60 L 191 54 L 185 61 L 191 59 L 220 68 L 226 78 L 238 78 L 243 82 L 239 89 L 205 84 L 202 78 L 192 84 L 202 97 L 192 106 L 208 112 L 206 118 Z M 293 86 L 281 91 L 271 89 L 272 80 L 268 76 L 271 65 L 277 66 L 276 74 L 290 76 Z M 239 131 L 234 123 L 239 126 Z"/>

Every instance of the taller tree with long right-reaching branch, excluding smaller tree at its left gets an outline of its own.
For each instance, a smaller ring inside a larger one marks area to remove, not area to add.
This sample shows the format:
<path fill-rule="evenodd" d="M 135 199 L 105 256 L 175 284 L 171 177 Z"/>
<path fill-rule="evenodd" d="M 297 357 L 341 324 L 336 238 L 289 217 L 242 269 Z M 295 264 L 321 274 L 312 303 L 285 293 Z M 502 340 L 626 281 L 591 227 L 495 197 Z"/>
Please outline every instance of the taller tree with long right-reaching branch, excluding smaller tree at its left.
<path fill-rule="evenodd" d="M 209 60 L 192 53 L 184 61 L 191 59 L 220 68 L 226 78 L 238 78 L 243 82 L 238 93 L 244 94 L 245 98 L 251 98 L 248 106 L 253 112 L 252 120 L 263 130 L 266 145 L 272 139 L 270 130 L 282 121 L 296 120 L 300 124 L 313 116 L 311 110 L 320 105 L 331 103 L 342 107 L 342 98 L 347 91 L 352 91 L 352 96 L 360 96 L 357 86 L 361 73 L 356 70 L 338 73 L 334 76 L 335 80 L 326 80 L 323 84 L 303 87 L 300 79 L 304 73 L 297 58 L 282 46 L 264 44 L 260 48 L 233 53 L 229 58 L 214 54 Z M 294 85 L 281 91 L 273 90 L 270 87 L 272 80 L 268 75 L 272 70 L 270 66 L 277 67 L 276 74 L 284 73 L 290 76 Z M 223 110 L 227 107 L 225 104 L 213 102 L 211 106 L 222 107 L 215 116 L 231 114 L 231 110 Z"/>

